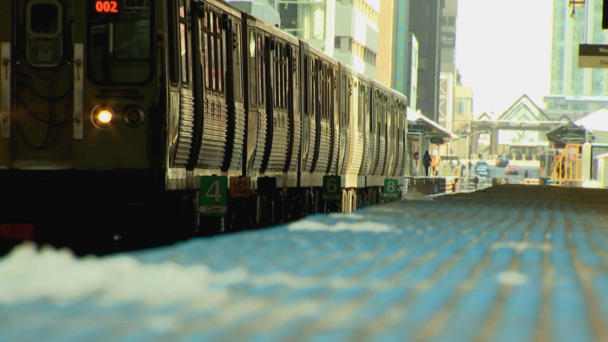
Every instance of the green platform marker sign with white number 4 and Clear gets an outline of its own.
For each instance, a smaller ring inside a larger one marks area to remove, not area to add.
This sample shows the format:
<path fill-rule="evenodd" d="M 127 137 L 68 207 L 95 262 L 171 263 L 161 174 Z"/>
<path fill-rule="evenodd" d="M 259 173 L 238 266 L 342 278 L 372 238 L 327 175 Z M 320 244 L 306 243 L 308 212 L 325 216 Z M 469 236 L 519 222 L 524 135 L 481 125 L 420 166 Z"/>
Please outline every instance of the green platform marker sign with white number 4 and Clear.
<path fill-rule="evenodd" d="M 228 178 L 226 176 L 201 176 L 199 197 L 201 216 L 226 216 L 228 212 Z"/>

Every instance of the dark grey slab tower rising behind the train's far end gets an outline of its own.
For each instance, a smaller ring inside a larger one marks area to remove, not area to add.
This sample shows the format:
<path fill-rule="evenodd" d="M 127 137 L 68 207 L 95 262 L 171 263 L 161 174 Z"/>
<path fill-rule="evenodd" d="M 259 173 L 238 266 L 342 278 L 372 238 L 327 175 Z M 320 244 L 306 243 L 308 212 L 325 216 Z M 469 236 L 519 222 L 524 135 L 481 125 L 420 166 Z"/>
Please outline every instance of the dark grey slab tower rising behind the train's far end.
<path fill-rule="evenodd" d="M 437 122 L 443 0 L 410 0 L 409 30 L 418 39 L 417 106 Z"/>

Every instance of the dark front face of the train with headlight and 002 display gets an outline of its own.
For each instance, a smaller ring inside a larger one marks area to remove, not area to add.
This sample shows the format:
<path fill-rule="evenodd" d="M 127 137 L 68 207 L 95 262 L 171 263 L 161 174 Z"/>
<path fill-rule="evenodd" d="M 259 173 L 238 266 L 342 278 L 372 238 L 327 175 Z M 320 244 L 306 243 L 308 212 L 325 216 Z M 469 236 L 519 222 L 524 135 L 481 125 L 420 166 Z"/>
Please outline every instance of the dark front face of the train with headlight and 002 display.
<path fill-rule="evenodd" d="M 47 242 L 103 242 L 143 228 L 120 218 L 147 215 L 141 204 L 164 190 L 156 68 L 162 4 L 2 1 L 6 235 L 25 223 Z"/>

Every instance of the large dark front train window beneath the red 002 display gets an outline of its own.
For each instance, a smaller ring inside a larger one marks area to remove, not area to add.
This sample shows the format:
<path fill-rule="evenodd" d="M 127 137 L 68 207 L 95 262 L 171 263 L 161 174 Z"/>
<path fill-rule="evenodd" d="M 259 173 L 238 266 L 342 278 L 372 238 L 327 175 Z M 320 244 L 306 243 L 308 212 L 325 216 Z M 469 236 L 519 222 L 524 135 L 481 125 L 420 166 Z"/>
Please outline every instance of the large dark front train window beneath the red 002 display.
<path fill-rule="evenodd" d="M 116 13 L 89 6 L 88 71 L 102 83 L 141 83 L 150 79 L 153 49 L 151 1 L 120 1 Z"/>

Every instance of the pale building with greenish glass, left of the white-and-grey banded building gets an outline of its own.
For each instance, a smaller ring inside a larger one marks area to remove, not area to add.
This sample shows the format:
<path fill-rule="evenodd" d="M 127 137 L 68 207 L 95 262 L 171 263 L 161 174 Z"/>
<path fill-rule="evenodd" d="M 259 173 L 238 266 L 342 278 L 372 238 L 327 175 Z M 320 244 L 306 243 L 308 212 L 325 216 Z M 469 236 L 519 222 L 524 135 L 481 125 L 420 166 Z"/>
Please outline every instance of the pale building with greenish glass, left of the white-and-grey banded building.
<path fill-rule="evenodd" d="M 336 0 L 278 0 L 281 29 L 328 55 L 334 54 Z"/>

